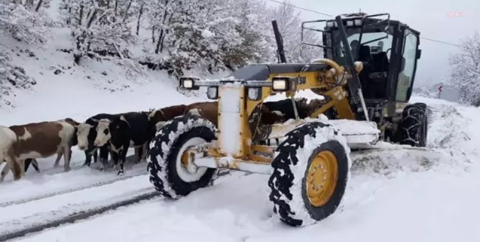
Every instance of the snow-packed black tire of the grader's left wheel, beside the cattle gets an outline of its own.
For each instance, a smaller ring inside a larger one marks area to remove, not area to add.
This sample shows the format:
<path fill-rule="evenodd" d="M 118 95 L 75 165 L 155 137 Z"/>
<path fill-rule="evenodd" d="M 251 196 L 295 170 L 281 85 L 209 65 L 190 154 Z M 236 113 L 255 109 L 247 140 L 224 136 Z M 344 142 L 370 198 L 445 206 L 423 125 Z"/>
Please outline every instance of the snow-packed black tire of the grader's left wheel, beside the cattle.
<path fill-rule="evenodd" d="M 181 156 L 189 146 L 216 139 L 215 131 L 210 121 L 199 116 L 183 115 L 167 122 L 150 143 L 147 159 L 155 189 L 164 197 L 179 199 L 211 184 L 217 169 L 200 167 L 190 172 Z"/>

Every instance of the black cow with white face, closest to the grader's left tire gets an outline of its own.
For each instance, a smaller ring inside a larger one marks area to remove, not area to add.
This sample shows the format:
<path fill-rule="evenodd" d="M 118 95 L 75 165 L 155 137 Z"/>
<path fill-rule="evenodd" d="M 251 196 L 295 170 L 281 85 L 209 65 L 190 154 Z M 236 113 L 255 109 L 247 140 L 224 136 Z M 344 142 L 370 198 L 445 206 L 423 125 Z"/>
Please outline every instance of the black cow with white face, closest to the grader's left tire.
<path fill-rule="evenodd" d="M 97 136 L 93 145 L 97 147 L 108 145 L 110 147 L 115 163 L 120 161 L 118 175 L 124 173 L 123 164 L 128 148 L 130 146 L 141 146 L 145 151 L 151 138 L 148 115 L 142 112 L 130 112 L 120 116 L 111 115 L 102 118 L 98 121 L 95 131 Z M 146 160 L 146 155 L 146 152 L 143 152 L 140 160 Z"/>

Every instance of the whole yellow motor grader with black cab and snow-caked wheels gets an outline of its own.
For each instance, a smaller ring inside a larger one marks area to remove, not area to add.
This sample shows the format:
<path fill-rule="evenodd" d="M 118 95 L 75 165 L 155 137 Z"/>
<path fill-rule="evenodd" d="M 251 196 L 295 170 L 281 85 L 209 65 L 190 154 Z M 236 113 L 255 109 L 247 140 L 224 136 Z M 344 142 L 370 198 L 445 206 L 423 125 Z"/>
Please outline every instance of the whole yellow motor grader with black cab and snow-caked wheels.
<path fill-rule="evenodd" d="M 156 190 L 171 199 L 210 186 L 220 169 L 267 174 L 274 213 L 286 224 L 305 226 L 339 207 L 350 152 L 378 141 L 425 146 L 426 105 L 408 104 L 419 32 L 388 13 L 303 22 L 302 43 L 323 48 L 323 58 L 292 64 L 285 62 L 272 23 L 280 63 L 248 65 L 220 80 L 180 79 L 180 88 L 206 87 L 208 98 L 218 101 L 218 127 L 195 114 L 169 120 L 150 144 L 148 170 Z M 305 42 L 304 31 L 321 33 L 322 43 Z M 266 98 L 285 94 L 296 110 L 300 90 L 325 102 L 307 118 L 260 122 Z M 271 139 L 280 143 L 267 145 Z"/>

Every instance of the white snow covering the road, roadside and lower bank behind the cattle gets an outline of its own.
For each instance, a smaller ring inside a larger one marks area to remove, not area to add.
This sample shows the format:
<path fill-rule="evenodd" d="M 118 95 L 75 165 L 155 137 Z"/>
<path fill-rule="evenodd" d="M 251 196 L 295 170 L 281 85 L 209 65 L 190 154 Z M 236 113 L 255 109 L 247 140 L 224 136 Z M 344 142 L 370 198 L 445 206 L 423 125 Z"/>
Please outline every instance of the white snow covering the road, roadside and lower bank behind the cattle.
<path fill-rule="evenodd" d="M 165 81 L 109 93 L 59 77 L 39 82 L 27 100 L 1 110 L 0 116 L 3 125 L 67 116 L 81 121 L 98 112 L 198 100 L 203 99 L 182 96 Z M 478 241 L 480 109 L 420 97 L 415 101 L 431 109 L 431 150 L 353 154 L 343 207 L 315 225 L 283 225 L 272 216 L 268 176 L 233 172 L 178 201 L 154 198 L 18 241 Z M 84 157 L 76 149 L 70 172 L 53 168 L 54 159 L 39 160 L 41 173 L 30 169 L 24 180 L 8 176 L 0 184 L 0 233 L 153 191 L 145 163 L 128 166 L 127 177 L 115 180 L 113 171 L 81 167 Z"/>

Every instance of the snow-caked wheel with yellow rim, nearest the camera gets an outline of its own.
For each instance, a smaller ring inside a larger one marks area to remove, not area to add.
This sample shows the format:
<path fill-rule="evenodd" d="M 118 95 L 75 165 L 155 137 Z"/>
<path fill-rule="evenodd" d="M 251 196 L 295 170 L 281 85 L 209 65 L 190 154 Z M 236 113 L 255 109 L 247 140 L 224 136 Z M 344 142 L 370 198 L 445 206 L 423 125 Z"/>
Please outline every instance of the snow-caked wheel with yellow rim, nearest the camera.
<path fill-rule="evenodd" d="M 308 123 L 285 135 L 272 162 L 270 201 L 280 220 L 306 226 L 339 207 L 350 178 L 350 149 L 337 129 Z"/>

